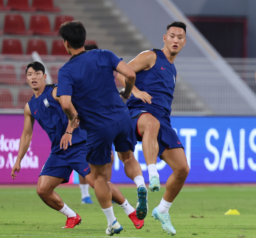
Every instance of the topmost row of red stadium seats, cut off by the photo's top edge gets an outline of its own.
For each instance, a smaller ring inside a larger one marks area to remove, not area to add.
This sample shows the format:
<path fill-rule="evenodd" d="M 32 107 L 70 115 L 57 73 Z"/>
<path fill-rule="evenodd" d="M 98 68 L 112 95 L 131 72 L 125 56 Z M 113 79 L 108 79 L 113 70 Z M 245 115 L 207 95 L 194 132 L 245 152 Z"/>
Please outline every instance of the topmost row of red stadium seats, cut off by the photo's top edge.
<path fill-rule="evenodd" d="M 8 0 L 4 6 L 4 1 L 0 0 L 0 11 L 60 11 L 59 7 L 54 7 L 53 0 L 33 0 L 29 5 L 28 0 Z"/>

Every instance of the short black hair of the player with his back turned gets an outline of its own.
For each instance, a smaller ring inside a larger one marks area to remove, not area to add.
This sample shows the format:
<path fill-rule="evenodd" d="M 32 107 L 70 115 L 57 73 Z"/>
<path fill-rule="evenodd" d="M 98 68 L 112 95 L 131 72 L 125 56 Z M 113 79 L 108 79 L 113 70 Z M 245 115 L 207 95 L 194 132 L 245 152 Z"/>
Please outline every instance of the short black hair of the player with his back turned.
<path fill-rule="evenodd" d="M 79 49 L 84 46 L 86 30 L 81 22 L 64 22 L 60 26 L 59 33 L 63 40 L 68 41 L 72 48 Z"/>

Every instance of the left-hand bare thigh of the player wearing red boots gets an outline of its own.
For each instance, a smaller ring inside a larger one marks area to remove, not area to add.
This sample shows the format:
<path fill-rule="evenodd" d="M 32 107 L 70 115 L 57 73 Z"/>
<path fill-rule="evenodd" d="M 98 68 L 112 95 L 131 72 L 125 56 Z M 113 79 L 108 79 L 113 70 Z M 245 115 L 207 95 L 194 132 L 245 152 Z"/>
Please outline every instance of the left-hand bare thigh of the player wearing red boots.
<path fill-rule="evenodd" d="M 52 192 L 62 182 L 63 178 L 41 175 L 38 179 L 37 190 Z"/>

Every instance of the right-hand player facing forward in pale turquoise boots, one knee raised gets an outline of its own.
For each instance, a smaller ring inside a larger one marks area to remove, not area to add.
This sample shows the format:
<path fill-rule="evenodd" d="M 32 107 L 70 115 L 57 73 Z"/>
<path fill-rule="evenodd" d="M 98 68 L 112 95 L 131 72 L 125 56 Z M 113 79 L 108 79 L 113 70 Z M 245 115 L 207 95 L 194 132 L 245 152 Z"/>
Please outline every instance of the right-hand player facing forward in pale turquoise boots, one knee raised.
<path fill-rule="evenodd" d="M 128 63 L 136 73 L 136 82 L 127 106 L 137 140 L 142 141 L 150 190 L 154 192 L 160 189 L 156 169 L 158 156 L 173 170 L 166 182 L 162 201 L 152 212 L 152 216 L 162 223 L 163 229 L 172 235 L 176 231 L 170 222 L 169 208 L 189 172 L 183 145 L 169 118 L 177 80 L 173 61 L 185 45 L 185 35 L 186 25 L 183 22 L 173 22 L 167 26 L 163 36 L 164 48 L 142 52 Z M 125 86 L 123 75 L 118 74 L 117 79 Z"/>

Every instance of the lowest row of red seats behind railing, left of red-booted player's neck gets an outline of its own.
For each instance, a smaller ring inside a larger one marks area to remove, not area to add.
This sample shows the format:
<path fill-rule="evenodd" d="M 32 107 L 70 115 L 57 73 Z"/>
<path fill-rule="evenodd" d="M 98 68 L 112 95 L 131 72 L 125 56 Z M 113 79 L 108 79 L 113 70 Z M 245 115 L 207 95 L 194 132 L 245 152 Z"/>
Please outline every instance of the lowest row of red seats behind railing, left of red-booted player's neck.
<path fill-rule="evenodd" d="M 18 100 L 15 105 L 13 100 L 14 97 L 11 91 L 9 89 L 0 89 L 0 108 L 24 108 L 32 95 L 32 89 L 20 89 L 18 93 Z"/>

